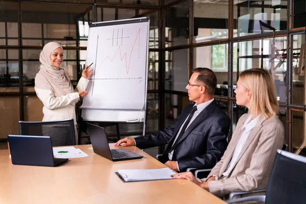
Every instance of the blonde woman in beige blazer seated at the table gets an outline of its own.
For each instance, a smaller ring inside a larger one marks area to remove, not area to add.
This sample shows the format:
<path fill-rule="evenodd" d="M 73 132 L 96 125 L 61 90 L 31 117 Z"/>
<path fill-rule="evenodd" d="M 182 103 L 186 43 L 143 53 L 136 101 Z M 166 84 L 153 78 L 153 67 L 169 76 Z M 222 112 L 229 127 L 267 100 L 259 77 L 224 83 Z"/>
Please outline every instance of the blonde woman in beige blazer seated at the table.
<path fill-rule="evenodd" d="M 284 143 L 284 126 L 276 115 L 278 103 L 274 81 L 264 69 L 241 72 L 235 90 L 237 104 L 248 108 L 221 160 L 208 179 L 195 179 L 191 172 L 173 175 L 188 179 L 217 196 L 235 191 L 265 189 L 276 149 Z"/>

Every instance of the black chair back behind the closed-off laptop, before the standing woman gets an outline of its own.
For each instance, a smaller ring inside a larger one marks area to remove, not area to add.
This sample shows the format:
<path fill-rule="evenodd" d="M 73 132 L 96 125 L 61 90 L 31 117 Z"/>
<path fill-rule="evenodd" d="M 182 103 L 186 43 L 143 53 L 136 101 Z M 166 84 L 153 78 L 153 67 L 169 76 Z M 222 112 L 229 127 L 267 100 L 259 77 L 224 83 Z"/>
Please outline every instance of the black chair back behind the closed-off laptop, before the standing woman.
<path fill-rule="evenodd" d="M 52 146 L 75 145 L 73 119 L 55 121 L 19 121 L 19 135 L 50 136 Z"/>

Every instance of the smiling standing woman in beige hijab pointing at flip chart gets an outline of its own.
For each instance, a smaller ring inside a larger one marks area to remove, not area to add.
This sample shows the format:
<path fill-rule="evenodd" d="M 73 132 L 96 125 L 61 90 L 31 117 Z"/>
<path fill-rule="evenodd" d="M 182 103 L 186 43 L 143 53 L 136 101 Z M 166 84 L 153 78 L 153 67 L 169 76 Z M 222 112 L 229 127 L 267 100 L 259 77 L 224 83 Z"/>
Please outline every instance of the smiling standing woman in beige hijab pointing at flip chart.
<path fill-rule="evenodd" d="M 63 51 L 63 47 L 57 42 L 49 42 L 43 47 L 39 58 L 40 70 L 35 77 L 35 91 L 44 105 L 42 121 L 73 118 L 75 141 L 78 141 L 75 104 L 88 94 L 85 89 L 92 69 L 85 67 L 77 87 L 73 90 L 65 70 L 60 67 L 63 63 Z M 52 137 L 53 146 L 61 146 L 66 138 L 63 138 L 64 134 L 56 134 L 54 130 L 45 129 L 43 135 Z"/>

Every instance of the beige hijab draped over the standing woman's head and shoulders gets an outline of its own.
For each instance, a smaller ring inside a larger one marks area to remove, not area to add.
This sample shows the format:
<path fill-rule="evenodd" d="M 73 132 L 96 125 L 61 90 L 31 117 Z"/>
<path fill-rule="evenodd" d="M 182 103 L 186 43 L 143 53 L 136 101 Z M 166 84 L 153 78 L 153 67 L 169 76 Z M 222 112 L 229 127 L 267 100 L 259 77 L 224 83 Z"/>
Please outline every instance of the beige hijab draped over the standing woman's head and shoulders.
<path fill-rule="evenodd" d="M 50 61 L 50 56 L 59 47 L 63 49 L 57 42 L 49 42 L 43 47 L 39 57 L 40 70 L 35 77 L 35 87 L 53 91 L 55 97 L 73 93 L 72 84 L 65 70 L 53 66 Z"/>

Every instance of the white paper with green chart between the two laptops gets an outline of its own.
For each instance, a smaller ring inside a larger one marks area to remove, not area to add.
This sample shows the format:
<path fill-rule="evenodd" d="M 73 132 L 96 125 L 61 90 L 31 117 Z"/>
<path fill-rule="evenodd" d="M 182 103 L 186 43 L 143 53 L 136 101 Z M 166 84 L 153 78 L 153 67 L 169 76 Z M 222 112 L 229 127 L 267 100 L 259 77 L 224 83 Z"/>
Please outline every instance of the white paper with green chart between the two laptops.
<path fill-rule="evenodd" d="M 53 155 L 63 159 L 89 157 L 84 151 L 74 147 L 53 147 Z"/>

